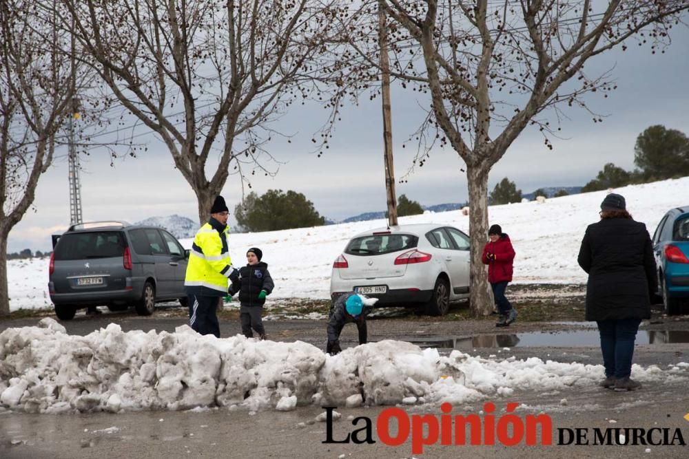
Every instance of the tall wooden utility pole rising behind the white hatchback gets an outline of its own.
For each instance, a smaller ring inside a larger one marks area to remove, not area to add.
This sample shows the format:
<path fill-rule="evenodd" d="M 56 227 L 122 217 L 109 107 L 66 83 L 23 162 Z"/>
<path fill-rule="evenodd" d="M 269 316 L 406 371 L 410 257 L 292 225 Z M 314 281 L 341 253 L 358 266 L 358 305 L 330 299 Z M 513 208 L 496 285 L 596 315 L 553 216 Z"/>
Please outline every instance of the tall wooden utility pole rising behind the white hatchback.
<path fill-rule="evenodd" d="M 392 116 L 390 104 L 390 60 L 387 51 L 385 12 L 378 3 L 378 45 L 382 73 L 383 144 L 385 158 L 385 189 L 387 191 L 388 226 L 397 225 L 397 198 L 395 197 L 395 167 L 392 156 Z"/>

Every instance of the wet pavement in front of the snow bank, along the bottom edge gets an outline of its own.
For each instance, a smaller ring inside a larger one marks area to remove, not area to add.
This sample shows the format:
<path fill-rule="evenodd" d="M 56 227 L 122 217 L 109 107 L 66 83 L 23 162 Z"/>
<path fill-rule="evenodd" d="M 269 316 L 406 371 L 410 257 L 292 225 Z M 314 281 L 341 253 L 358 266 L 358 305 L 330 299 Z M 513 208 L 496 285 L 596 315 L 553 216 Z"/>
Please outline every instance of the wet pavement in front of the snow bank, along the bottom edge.
<path fill-rule="evenodd" d="M 496 419 L 504 414 L 508 401 L 522 403 L 517 416 L 544 413 L 553 425 L 554 445 L 514 447 L 504 445 L 435 445 L 424 454 L 411 452 L 411 438 L 398 446 L 382 442 L 378 419 L 388 407 L 338 407 L 340 420 L 333 422 L 331 438 L 343 441 L 352 431 L 371 420 L 371 440 L 355 444 L 324 443 L 327 424 L 316 420 L 323 409 L 298 407 L 292 412 L 206 409 L 192 412 L 127 412 L 122 414 L 0 414 L 1 458 L 686 458 L 687 447 L 675 445 L 564 445 L 558 444 L 558 429 L 680 429 L 689 441 L 689 412 L 686 388 L 677 383 L 644 387 L 638 392 L 613 392 L 600 387 L 577 387 L 549 393 L 517 391 L 509 400 L 495 397 Z M 683 392 L 684 391 L 684 392 Z M 483 415 L 484 402 L 453 407 L 452 414 Z M 409 416 L 433 414 L 438 407 L 404 407 Z M 398 434 L 393 421 L 392 436 Z M 485 428 L 485 425 L 484 425 Z M 574 430 L 573 430 L 574 431 Z M 564 432 L 567 434 L 567 432 Z M 661 438 L 661 437 L 656 437 Z M 565 442 L 567 438 L 564 438 Z M 466 440 L 469 441 L 469 438 Z M 637 442 L 638 443 L 638 442 Z"/>

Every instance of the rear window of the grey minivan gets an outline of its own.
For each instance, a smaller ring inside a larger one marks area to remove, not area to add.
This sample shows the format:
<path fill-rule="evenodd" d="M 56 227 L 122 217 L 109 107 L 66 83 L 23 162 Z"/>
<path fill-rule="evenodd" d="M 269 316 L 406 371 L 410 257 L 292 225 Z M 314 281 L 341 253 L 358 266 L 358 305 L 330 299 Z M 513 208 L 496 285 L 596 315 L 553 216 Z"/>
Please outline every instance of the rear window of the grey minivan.
<path fill-rule="evenodd" d="M 69 233 L 57 242 L 55 260 L 121 257 L 125 246 L 121 231 Z"/>

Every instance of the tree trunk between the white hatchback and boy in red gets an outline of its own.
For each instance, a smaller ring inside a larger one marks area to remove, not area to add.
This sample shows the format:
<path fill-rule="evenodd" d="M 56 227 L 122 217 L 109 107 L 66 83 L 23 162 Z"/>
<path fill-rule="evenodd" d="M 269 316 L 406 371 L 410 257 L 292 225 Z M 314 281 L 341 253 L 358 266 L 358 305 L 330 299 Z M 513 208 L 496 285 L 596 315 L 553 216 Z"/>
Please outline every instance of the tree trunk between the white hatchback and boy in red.
<path fill-rule="evenodd" d="M 473 317 L 486 316 L 493 310 L 493 291 L 488 271 L 481 260 L 488 234 L 488 175 L 490 167 L 466 164 L 469 181 L 469 235 L 471 239 L 471 274 L 469 303 Z"/>

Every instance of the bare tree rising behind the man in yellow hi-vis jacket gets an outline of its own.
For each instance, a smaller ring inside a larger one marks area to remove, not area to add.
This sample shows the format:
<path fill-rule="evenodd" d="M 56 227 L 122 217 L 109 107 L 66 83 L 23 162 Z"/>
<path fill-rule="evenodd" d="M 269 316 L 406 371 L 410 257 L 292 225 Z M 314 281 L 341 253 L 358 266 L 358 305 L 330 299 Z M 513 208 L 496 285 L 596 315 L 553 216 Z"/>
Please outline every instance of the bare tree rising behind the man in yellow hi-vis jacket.
<path fill-rule="evenodd" d="M 339 8 L 336 0 L 60 1 L 71 14 L 63 27 L 74 21 L 105 98 L 165 143 L 196 193 L 200 222 L 230 173 L 245 184 L 256 171 L 275 172 L 266 144 L 281 134 L 270 124 L 318 96 L 317 56 L 336 34 Z"/>

